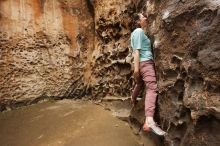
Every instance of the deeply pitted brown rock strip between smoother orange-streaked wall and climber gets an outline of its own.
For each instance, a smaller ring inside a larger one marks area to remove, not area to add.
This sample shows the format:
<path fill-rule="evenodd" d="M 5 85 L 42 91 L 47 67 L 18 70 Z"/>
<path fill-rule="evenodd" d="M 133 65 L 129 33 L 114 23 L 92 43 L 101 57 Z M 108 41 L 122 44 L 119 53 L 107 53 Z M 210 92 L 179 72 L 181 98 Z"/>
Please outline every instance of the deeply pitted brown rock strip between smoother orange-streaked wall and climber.
<path fill-rule="evenodd" d="M 93 97 L 129 96 L 132 85 L 131 1 L 95 1 L 95 50 L 91 77 Z"/>

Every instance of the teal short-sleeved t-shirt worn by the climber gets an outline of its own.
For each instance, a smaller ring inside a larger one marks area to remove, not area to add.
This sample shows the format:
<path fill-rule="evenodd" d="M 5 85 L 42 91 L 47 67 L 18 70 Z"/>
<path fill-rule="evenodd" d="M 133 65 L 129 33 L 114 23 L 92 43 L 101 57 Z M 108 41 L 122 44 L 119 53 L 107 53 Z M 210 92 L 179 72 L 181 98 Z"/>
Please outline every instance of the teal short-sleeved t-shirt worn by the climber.
<path fill-rule="evenodd" d="M 142 28 L 136 28 L 131 33 L 131 47 L 140 50 L 140 62 L 153 60 L 150 39 Z"/>

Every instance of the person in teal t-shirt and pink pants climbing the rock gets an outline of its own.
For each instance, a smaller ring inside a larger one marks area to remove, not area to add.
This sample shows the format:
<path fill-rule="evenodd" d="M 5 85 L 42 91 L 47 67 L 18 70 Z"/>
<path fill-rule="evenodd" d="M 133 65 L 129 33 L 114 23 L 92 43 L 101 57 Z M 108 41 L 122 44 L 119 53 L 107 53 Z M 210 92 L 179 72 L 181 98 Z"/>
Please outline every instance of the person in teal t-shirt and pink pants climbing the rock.
<path fill-rule="evenodd" d="M 143 82 L 146 86 L 145 96 L 145 123 L 144 131 L 153 131 L 155 134 L 163 136 L 166 134 L 154 122 L 155 105 L 157 98 L 157 81 L 155 75 L 153 53 L 150 39 L 145 35 L 144 27 L 147 26 L 147 18 L 139 13 L 134 14 L 133 24 L 135 30 L 131 33 L 131 46 L 134 56 L 134 80 L 135 87 L 132 92 L 131 101 L 133 106 L 137 103 L 137 96 L 142 88 Z"/>

